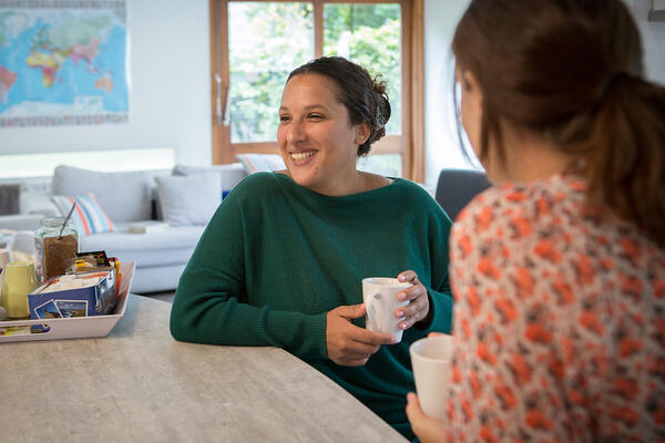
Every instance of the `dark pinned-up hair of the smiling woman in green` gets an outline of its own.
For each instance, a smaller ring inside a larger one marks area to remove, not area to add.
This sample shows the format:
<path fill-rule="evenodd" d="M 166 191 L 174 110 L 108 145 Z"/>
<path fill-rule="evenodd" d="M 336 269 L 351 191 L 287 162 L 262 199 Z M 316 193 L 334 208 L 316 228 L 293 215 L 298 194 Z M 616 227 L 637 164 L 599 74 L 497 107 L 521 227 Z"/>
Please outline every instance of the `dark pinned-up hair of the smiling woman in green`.
<path fill-rule="evenodd" d="M 319 74 L 337 85 L 335 95 L 345 105 L 351 124 L 367 123 L 371 130 L 367 141 L 358 146 L 358 156 L 366 156 L 370 145 L 386 135 L 386 123 L 390 119 L 390 102 L 387 85 L 380 75 L 374 79 L 367 70 L 341 56 L 321 56 L 296 68 L 286 82 L 299 74 Z"/>

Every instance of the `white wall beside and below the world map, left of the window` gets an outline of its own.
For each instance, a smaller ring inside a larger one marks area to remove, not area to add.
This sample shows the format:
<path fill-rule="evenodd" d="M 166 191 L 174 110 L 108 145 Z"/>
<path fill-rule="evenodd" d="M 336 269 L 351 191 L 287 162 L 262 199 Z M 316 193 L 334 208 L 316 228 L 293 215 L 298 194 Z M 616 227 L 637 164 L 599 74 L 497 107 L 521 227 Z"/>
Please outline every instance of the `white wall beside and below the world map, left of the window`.
<path fill-rule="evenodd" d="M 127 0 L 130 123 L 0 128 L 2 154 L 172 147 L 209 164 L 207 0 Z"/>

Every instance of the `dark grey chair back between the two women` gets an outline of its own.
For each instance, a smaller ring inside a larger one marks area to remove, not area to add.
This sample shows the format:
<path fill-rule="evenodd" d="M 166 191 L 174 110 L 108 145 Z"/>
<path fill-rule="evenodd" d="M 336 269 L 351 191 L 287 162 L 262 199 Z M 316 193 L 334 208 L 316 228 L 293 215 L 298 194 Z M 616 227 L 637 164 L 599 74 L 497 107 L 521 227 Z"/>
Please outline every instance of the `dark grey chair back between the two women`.
<path fill-rule="evenodd" d="M 451 220 L 477 195 L 490 187 L 485 173 L 470 169 L 443 169 L 439 174 L 436 198 Z"/>

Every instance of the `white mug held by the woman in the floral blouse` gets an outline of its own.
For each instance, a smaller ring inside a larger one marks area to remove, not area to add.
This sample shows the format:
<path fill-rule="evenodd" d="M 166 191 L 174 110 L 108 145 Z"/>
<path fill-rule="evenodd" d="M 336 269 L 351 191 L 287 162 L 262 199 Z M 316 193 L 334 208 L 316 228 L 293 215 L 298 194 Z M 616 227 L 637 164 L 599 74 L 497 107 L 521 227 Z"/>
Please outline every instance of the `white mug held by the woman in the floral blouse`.
<path fill-rule="evenodd" d="M 442 334 L 415 341 L 409 348 L 416 391 L 426 415 L 446 420 L 454 339 Z"/>

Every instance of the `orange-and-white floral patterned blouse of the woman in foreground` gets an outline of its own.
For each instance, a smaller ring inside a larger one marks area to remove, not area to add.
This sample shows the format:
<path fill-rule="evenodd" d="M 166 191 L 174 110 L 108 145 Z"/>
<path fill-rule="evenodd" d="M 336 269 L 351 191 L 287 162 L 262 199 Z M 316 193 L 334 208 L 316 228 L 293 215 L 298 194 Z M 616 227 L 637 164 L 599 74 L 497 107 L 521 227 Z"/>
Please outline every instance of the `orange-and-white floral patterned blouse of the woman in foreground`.
<path fill-rule="evenodd" d="M 665 442 L 665 251 L 584 206 L 556 176 L 458 217 L 448 441 Z"/>

